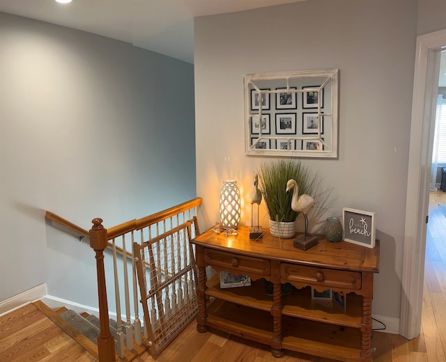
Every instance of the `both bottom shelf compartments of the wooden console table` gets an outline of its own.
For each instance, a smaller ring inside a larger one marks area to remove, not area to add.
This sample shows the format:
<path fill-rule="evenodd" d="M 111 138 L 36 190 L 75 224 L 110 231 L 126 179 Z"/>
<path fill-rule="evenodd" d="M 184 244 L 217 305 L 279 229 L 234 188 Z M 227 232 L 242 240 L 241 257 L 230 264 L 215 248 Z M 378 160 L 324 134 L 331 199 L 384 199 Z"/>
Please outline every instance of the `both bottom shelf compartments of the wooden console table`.
<path fill-rule="evenodd" d="M 234 336 L 270 345 L 272 316 L 264 310 L 215 299 L 207 308 L 206 325 Z M 282 316 L 282 348 L 339 361 L 360 358 L 359 329 Z"/>

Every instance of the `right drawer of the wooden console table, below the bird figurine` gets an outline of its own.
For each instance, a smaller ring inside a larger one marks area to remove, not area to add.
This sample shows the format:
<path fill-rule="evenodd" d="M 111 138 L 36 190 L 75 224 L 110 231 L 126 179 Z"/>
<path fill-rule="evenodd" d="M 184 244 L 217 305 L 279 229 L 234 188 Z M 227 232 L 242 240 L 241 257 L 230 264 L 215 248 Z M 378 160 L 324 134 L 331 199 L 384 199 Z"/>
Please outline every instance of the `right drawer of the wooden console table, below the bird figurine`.
<path fill-rule="evenodd" d="M 280 276 L 284 281 L 305 283 L 313 286 L 324 285 L 327 289 L 361 289 L 361 273 L 350 272 L 348 270 L 325 269 L 284 263 L 280 266 Z"/>

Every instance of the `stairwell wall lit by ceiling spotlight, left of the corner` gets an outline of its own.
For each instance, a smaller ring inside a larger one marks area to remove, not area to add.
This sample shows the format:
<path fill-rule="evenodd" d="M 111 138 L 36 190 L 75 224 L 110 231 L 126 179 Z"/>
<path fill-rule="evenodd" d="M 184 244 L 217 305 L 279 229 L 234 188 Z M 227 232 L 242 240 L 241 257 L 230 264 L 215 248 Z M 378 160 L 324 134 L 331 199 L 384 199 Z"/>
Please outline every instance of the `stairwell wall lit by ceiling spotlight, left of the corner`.
<path fill-rule="evenodd" d="M 94 253 L 45 210 L 88 230 L 196 196 L 193 65 L 0 13 L 0 79 L 0 301 L 90 304 Z"/>

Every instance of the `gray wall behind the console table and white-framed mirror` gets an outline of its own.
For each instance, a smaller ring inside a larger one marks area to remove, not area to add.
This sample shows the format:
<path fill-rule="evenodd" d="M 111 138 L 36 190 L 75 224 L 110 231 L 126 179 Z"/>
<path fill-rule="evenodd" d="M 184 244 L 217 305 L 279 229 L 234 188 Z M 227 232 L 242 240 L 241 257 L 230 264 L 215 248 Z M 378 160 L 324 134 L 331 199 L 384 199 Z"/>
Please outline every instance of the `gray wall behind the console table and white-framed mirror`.
<path fill-rule="evenodd" d="M 312 0 L 195 21 L 197 193 L 218 218 L 222 180 L 235 178 L 249 225 L 243 74 L 339 68 L 339 159 L 304 160 L 333 189 L 334 206 L 376 212 L 381 242 L 374 315 L 399 320 L 417 0 Z M 212 52 L 210 52 L 212 49 Z M 263 226 L 268 225 L 266 207 Z M 300 218 L 298 218 L 300 219 Z M 312 220 L 312 231 L 321 231 Z M 302 221 L 300 231 L 303 230 Z"/>

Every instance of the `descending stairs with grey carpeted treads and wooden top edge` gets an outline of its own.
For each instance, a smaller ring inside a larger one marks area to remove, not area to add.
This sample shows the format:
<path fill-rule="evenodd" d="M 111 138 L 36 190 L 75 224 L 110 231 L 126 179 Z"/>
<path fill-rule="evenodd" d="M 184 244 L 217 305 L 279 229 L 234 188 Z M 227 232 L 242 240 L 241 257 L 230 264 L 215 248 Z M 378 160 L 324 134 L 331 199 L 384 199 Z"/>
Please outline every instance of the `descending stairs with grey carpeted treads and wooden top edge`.
<path fill-rule="evenodd" d="M 84 347 L 86 351 L 95 356 L 98 359 L 98 335 L 100 332 L 100 321 L 95 315 L 89 315 L 89 313 L 79 314 L 74 310 L 69 310 L 65 307 L 52 310 L 42 301 L 36 301 L 33 303 L 43 314 L 45 314 L 52 322 L 54 322 L 59 328 L 74 339 L 79 345 Z M 110 320 L 110 331 L 115 336 L 118 333 L 117 323 L 115 320 Z M 124 336 L 125 338 L 125 336 Z M 143 337 L 143 343 L 140 346 L 134 346 L 132 351 L 125 349 L 125 356 L 119 358 L 116 354 L 116 361 L 130 362 L 136 359 L 138 356 L 147 354 L 148 340 Z"/>

